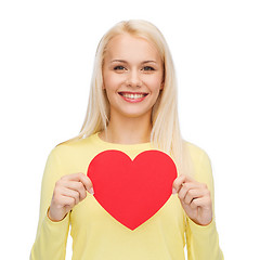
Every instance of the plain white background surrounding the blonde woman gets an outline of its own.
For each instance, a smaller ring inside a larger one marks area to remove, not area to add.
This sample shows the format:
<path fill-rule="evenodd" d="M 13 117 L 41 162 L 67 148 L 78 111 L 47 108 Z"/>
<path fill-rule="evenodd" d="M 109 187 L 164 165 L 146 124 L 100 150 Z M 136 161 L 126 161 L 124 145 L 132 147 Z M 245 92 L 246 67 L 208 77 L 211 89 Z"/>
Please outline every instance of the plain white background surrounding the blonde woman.
<path fill-rule="evenodd" d="M 29 258 L 47 157 L 57 143 L 79 133 L 96 46 L 115 23 L 129 18 L 155 24 L 171 49 L 182 135 L 211 159 L 217 229 L 225 259 L 256 259 L 259 13 L 258 1 L 252 0 L 1 1 L 4 259 Z"/>

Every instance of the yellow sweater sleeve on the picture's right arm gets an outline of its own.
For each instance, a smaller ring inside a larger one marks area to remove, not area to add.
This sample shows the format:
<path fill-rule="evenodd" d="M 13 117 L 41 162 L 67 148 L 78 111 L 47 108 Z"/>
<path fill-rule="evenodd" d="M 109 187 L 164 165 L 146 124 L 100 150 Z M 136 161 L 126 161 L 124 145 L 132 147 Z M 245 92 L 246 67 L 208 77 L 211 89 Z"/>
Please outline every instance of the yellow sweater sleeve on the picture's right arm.
<path fill-rule="evenodd" d="M 188 260 L 223 260 L 223 253 L 219 246 L 219 235 L 214 220 L 214 188 L 211 164 L 208 155 L 202 151 L 199 168 L 196 170 L 195 179 L 206 183 L 212 200 L 213 218 L 206 225 L 198 225 L 186 217 L 186 246 Z"/>

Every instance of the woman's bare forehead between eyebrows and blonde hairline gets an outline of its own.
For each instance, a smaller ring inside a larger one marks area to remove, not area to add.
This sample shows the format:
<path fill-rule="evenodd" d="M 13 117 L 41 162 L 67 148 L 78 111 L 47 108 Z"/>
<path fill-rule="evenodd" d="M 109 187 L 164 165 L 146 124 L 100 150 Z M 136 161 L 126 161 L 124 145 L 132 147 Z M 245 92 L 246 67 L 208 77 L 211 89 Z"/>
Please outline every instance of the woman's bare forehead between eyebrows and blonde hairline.
<path fill-rule="evenodd" d="M 146 39 L 128 34 L 114 37 L 107 44 L 105 58 L 122 58 L 131 61 L 155 60 L 160 56 L 155 44 Z"/>

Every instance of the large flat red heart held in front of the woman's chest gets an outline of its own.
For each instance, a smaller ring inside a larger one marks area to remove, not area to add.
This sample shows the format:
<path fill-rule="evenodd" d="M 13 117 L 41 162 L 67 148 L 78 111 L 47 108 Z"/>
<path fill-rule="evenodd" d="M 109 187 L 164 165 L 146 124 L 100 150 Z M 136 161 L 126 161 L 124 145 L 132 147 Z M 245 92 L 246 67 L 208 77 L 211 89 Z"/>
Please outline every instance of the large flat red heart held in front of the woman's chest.
<path fill-rule="evenodd" d="M 91 160 L 87 174 L 99 204 L 134 230 L 169 199 L 177 168 L 169 155 L 157 150 L 142 152 L 134 160 L 120 151 L 107 150 Z"/>

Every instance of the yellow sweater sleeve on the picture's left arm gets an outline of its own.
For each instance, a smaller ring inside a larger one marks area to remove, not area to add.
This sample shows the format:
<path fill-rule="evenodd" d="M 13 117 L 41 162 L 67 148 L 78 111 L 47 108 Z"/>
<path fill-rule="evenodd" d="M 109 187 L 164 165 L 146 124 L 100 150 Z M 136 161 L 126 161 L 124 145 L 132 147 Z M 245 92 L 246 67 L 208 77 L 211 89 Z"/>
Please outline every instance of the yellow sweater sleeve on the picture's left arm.
<path fill-rule="evenodd" d="M 62 177 L 56 151 L 57 148 L 54 147 L 49 154 L 42 177 L 40 214 L 30 260 L 64 260 L 66 255 L 70 213 L 58 222 L 51 221 L 47 216 L 55 182 Z"/>

